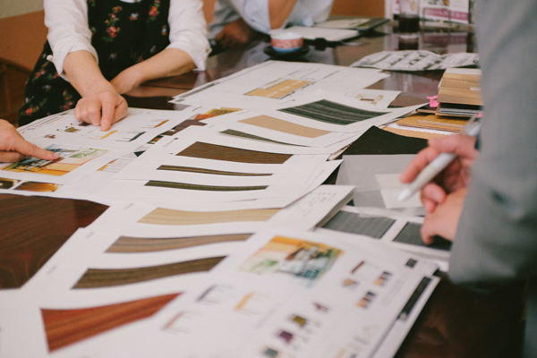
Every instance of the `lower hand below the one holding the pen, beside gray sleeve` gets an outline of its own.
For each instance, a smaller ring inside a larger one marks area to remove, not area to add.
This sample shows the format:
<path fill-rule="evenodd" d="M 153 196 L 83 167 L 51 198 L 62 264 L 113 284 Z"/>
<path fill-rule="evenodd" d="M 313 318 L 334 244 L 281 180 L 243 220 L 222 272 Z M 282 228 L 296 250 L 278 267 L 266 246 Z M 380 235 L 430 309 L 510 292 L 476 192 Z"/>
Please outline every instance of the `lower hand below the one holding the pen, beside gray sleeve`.
<path fill-rule="evenodd" d="M 421 230 L 423 243 L 433 243 L 436 235 L 453 241 L 467 191 L 468 189 L 463 187 L 451 192 L 443 203 L 437 205 L 433 212 L 425 214 Z"/>

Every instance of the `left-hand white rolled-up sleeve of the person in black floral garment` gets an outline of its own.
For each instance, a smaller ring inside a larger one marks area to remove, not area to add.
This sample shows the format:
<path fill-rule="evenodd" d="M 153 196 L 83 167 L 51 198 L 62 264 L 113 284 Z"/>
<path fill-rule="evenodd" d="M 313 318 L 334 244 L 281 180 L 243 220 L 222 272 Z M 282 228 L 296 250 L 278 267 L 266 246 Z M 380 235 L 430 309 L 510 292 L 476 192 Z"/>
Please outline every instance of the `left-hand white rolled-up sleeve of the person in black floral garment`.
<path fill-rule="evenodd" d="M 53 54 L 48 60 L 67 80 L 64 60 L 71 52 L 85 50 L 98 61 L 97 51 L 91 46 L 88 4 L 84 0 L 45 0 L 44 7 L 47 39 Z"/>

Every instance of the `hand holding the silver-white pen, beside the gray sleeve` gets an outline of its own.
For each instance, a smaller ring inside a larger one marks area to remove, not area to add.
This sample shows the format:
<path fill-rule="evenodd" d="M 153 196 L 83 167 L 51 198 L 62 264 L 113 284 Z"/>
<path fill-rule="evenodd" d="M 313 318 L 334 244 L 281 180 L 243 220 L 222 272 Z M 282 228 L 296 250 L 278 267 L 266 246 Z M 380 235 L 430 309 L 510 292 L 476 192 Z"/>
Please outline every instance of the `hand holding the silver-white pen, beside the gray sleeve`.
<path fill-rule="evenodd" d="M 479 155 L 475 149 L 475 138 L 456 134 L 446 138 L 431 139 L 429 147 L 418 153 L 416 158 L 405 168 L 401 174 L 401 183 L 411 183 L 422 169 L 442 152 L 456 154 L 456 158 L 434 180 L 422 187 L 421 199 L 428 213 L 442 204 L 447 194 L 455 192 L 470 183 L 470 171 L 473 162 Z"/>

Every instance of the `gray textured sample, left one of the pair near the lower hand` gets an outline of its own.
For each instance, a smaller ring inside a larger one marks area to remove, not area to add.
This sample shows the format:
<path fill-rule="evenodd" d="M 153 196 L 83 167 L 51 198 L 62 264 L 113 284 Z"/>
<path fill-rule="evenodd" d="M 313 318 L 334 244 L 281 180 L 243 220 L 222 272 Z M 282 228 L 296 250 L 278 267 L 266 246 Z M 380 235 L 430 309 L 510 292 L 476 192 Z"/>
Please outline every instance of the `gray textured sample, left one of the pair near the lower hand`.
<path fill-rule="evenodd" d="M 360 217 L 359 214 L 339 211 L 323 226 L 351 234 L 364 234 L 379 239 L 396 220 L 389 217 Z"/>

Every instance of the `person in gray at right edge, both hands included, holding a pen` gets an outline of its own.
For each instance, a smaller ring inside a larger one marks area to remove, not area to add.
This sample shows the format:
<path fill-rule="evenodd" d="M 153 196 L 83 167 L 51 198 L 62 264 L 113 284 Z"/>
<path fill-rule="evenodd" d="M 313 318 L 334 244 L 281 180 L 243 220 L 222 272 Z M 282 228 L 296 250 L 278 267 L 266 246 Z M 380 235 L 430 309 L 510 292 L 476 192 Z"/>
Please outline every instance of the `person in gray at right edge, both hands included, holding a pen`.
<path fill-rule="evenodd" d="M 422 188 L 422 238 L 453 240 L 448 275 L 456 284 L 485 293 L 526 280 L 524 357 L 537 357 L 536 15 L 537 0 L 480 3 L 479 153 L 463 135 L 430 141 L 401 175 L 410 183 L 440 152 L 459 157 Z"/>

